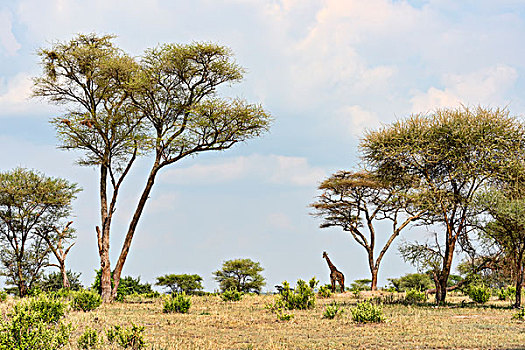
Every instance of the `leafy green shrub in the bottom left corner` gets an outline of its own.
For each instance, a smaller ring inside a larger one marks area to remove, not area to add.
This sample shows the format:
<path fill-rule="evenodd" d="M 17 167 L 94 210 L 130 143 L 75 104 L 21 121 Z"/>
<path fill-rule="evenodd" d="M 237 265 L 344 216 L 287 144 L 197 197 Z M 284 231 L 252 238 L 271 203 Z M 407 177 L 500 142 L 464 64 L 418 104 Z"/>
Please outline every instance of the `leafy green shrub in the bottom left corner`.
<path fill-rule="evenodd" d="M 23 300 L 0 323 L 0 350 L 55 350 L 69 342 L 65 306 L 45 296 Z"/>

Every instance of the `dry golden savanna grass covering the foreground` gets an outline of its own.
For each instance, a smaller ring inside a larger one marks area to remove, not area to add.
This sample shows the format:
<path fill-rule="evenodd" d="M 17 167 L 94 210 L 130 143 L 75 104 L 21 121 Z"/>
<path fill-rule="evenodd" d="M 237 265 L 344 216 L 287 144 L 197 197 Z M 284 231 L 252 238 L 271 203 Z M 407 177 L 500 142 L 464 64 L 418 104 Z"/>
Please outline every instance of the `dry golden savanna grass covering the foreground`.
<path fill-rule="evenodd" d="M 452 296 L 448 306 L 383 305 L 386 321 L 356 324 L 350 309 L 360 299 L 352 293 L 317 299 L 314 309 L 293 310 L 278 321 L 266 308 L 275 296 L 245 295 L 240 302 L 218 296 L 194 296 L 188 314 L 164 314 L 161 298 L 149 303 L 114 303 L 92 312 L 70 310 L 74 331 L 69 349 L 87 327 L 104 330 L 132 323 L 145 327 L 147 349 L 525 349 L 525 323 L 513 320 L 509 302 L 494 298 L 479 306 Z M 462 300 L 465 302 L 462 303 Z M 326 306 L 343 305 L 344 313 L 323 318 Z M 4 313 L 14 301 L 3 303 Z M 103 349 L 112 349 L 110 345 Z M 113 347 L 117 349 L 117 347 Z"/>

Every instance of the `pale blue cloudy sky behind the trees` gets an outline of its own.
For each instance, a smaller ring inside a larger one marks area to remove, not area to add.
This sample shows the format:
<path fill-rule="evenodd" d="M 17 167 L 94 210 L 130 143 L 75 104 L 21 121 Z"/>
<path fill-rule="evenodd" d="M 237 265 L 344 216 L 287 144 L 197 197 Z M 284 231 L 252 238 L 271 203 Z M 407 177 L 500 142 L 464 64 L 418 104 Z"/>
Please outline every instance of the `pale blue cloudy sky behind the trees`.
<path fill-rule="evenodd" d="M 78 33 L 115 34 L 132 56 L 162 43 L 228 46 L 246 74 L 221 94 L 260 103 L 274 118 L 258 139 L 163 169 L 123 271 L 149 283 L 197 273 L 213 291 L 212 272 L 235 258 L 260 262 L 263 290 L 312 276 L 328 283 L 323 251 L 347 281 L 368 278 L 363 248 L 340 229 L 320 229 L 308 207 L 324 178 L 358 168 L 363 132 L 460 104 L 525 112 L 523 0 L 2 0 L 0 171 L 36 169 L 83 188 L 67 265 L 85 285 L 100 265 L 97 171 L 57 148 L 49 120 L 64 109 L 30 98 L 37 50 Z M 150 163 L 141 159 L 123 185 L 113 263 Z M 428 235 L 413 228 L 404 239 Z M 385 256 L 380 286 L 415 272 L 400 242 Z"/>

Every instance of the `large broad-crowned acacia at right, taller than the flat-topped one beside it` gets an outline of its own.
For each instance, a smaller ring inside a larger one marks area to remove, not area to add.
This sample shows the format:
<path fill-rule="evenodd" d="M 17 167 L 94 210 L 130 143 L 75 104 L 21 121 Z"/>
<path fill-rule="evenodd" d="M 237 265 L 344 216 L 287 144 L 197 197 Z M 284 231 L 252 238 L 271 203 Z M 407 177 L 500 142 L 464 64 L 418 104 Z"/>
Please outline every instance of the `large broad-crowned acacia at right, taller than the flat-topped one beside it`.
<path fill-rule="evenodd" d="M 441 258 L 436 302 L 445 301 L 456 243 L 467 240 L 468 219 L 476 215 L 476 194 L 523 157 L 523 135 L 522 124 L 508 111 L 483 107 L 414 115 L 365 135 L 361 149 L 367 164 L 386 179 L 410 176 L 415 193 L 425 199 L 420 202 L 428 210 L 424 223 L 444 228 L 436 240 Z"/>

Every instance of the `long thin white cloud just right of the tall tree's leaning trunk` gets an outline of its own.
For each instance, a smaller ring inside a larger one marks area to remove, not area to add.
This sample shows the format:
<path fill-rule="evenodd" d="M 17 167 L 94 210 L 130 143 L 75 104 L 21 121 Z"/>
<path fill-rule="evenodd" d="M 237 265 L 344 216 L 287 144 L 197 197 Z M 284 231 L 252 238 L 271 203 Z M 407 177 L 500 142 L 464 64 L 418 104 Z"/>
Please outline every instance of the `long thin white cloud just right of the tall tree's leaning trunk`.
<path fill-rule="evenodd" d="M 177 184 L 210 185 L 248 179 L 289 186 L 315 186 L 324 176 L 325 172 L 310 166 L 306 158 L 257 154 L 198 163 L 161 175 L 163 181 Z"/>

